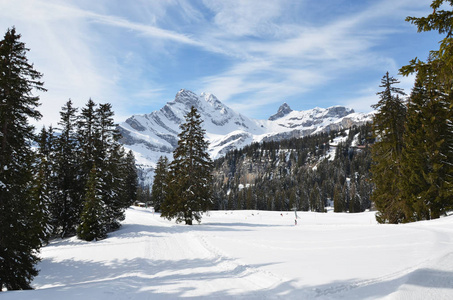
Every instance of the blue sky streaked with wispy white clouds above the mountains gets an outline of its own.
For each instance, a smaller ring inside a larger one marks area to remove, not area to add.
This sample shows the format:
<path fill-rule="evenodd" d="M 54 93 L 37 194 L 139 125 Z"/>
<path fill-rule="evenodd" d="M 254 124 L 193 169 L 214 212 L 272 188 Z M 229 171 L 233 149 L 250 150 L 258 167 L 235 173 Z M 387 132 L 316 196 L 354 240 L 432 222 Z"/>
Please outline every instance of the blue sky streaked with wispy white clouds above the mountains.
<path fill-rule="evenodd" d="M 110 102 L 119 122 L 182 88 L 267 119 L 283 102 L 371 111 L 387 71 L 409 93 L 413 78 L 398 69 L 442 36 L 404 19 L 431 2 L 0 0 L 0 30 L 15 26 L 44 74 L 41 124 L 55 126 L 69 98 Z"/>

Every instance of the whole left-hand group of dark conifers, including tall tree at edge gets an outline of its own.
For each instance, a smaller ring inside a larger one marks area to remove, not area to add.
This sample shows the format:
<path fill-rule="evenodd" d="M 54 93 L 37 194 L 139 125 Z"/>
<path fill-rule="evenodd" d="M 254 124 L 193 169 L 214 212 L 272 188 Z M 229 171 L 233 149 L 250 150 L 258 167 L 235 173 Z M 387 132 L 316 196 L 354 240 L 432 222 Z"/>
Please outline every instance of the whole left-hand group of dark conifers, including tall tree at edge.
<path fill-rule="evenodd" d="M 39 250 L 54 236 L 104 238 L 136 198 L 132 152 L 119 144 L 110 104 L 60 112 L 35 134 L 45 91 L 15 28 L 0 41 L 0 291 L 30 289 Z"/>

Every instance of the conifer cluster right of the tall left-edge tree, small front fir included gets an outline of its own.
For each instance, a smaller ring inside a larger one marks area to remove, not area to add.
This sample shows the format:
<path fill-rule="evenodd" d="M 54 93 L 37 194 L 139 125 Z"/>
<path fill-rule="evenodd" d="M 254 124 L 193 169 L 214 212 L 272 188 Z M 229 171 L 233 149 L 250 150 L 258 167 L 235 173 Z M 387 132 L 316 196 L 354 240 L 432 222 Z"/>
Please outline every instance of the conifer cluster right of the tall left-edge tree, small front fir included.
<path fill-rule="evenodd" d="M 50 236 L 91 241 L 118 229 L 137 198 L 137 170 L 125 152 L 109 103 L 62 107 L 58 133 L 38 135 L 38 180 Z"/>

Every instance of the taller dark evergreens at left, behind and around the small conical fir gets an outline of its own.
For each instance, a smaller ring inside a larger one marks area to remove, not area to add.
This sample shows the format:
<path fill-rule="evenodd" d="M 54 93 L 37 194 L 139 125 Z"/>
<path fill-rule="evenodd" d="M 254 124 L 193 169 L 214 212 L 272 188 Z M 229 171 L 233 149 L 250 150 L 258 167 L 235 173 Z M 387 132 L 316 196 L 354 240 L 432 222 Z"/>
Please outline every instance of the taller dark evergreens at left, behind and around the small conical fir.
<path fill-rule="evenodd" d="M 86 206 L 86 187 L 93 165 L 96 188 L 102 200 L 102 220 L 107 231 L 120 227 L 124 212 L 137 199 L 137 170 L 132 152 L 125 153 L 113 122 L 110 104 L 90 99 L 80 115 L 69 100 L 62 108 L 61 134 L 57 136 L 52 164 L 50 220 L 55 235 L 76 233 Z M 90 166 L 91 164 L 91 166 Z"/>

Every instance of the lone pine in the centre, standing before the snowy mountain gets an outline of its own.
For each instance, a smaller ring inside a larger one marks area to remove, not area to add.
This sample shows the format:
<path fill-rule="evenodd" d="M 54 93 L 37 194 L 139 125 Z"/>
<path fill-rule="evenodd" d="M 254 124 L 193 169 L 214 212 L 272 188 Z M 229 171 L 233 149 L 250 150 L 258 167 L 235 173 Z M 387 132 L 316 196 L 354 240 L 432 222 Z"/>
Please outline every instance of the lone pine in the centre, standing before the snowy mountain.
<path fill-rule="evenodd" d="M 178 135 L 178 146 L 173 152 L 170 164 L 167 192 L 161 207 L 161 216 L 175 218 L 192 225 L 201 221 L 202 212 L 213 204 L 212 168 L 213 163 L 204 139 L 205 130 L 196 108 L 192 107 L 185 116 L 185 123 Z"/>

